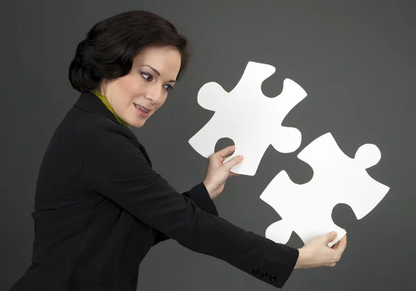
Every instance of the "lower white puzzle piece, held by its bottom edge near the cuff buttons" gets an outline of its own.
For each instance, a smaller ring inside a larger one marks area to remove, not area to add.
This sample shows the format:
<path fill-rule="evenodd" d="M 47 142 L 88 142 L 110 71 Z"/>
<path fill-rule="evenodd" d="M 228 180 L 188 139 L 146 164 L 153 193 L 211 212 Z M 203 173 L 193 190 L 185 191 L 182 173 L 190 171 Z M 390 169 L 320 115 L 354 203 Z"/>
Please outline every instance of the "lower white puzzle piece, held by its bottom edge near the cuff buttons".
<path fill-rule="evenodd" d="M 266 229 L 266 238 L 275 243 L 286 244 L 292 231 L 305 244 L 311 238 L 337 231 L 337 238 L 329 243 L 331 247 L 346 233 L 331 218 L 336 204 L 348 204 L 360 220 L 390 189 L 365 170 L 381 159 L 376 145 L 361 145 L 351 159 L 340 150 L 332 134 L 327 133 L 307 145 L 297 157 L 313 168 L 311 181 L 295 184 L 282 170 L 260 195 L 281 217 Z"/>

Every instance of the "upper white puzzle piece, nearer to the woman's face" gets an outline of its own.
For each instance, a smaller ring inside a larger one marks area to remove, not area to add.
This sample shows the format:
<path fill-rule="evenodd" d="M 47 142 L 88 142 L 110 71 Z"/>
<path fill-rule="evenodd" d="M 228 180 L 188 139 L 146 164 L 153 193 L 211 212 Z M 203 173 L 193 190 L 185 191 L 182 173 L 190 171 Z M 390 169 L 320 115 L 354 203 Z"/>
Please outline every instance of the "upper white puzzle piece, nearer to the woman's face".
<path fill-rule="evenodd" d="M 283 153 L 297 150 L 302 139 L 300 131 L 281 126 L 281 122 L 306 97 L 306 92 L 293 80 L 286 79 L 279 96 L 264 96 L 261 84 L 273 73 L 275 67 L 248 62 L 232 91 L 225 91 L 216 82 L 202 86 L 198 103 L 215 114 L 189 139 L 191 146 L 203 157 L 209 157 L 219 139 L 232 139 L 236 145 L 234 154 L 224 162 L 243 155 L 244 160 L 232 168 L 232 172 L 242 175 L 255 175 L 270 144 Z"/>

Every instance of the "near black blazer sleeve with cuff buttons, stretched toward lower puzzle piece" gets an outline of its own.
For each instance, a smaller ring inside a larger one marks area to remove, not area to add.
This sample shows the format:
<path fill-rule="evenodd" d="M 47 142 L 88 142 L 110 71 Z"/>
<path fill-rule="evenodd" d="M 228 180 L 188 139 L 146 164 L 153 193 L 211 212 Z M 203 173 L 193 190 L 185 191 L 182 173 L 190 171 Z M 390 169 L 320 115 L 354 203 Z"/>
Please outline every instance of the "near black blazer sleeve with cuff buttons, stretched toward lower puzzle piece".
<path fill-rule="evenodd" d="M 89 135 L 83 167 L 89 186 L 187 249 L 283 287 L 299 251 L 200 209 L 153 170 L 133 136 L 112 124 Z"/>

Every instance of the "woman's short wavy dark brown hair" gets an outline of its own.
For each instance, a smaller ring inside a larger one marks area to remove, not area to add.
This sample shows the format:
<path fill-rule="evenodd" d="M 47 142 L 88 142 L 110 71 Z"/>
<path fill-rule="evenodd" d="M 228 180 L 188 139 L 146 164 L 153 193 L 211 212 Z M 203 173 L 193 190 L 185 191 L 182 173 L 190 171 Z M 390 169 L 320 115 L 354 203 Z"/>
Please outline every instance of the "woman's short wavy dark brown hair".
<path fill-rule="evenodd" d="M 76 47 L 69 65 L 73 89 L 97 89 L 103 79 L 127 75 L 137 54 L 149 47 L 173 46 L 180 52 L 184 71 L 191 55 L 187 38 L 177 33 L 171 22 L 152 12 L 122 12 L 95 24 Z"/>

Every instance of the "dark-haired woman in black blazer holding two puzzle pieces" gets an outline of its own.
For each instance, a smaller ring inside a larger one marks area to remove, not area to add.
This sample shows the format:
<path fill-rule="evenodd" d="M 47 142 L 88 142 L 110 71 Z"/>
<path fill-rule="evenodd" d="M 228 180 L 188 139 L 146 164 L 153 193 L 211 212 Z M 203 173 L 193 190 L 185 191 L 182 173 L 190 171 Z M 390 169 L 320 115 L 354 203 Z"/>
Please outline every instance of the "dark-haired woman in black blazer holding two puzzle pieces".
<path fill-rule="evenodd" d="M 335 233 L 301 249 L 220 218 L 212 200 L 241 158 L 209 158 L 207 176 L 177 193 L 130 130 L 164 104 L 187 65 L 187 40 L 161 17 L 131 11 L 98 22 L 78 44 L 69 80 L 81 92 L 46 150 L 35 194 L 32 265 L 16 290 L 136 290 L 140 262 L 168 238 L 281 288 L 295 268 L 333 266 Z"/>

